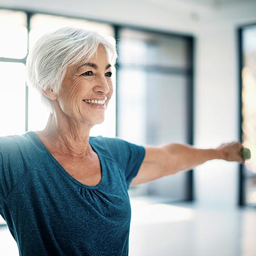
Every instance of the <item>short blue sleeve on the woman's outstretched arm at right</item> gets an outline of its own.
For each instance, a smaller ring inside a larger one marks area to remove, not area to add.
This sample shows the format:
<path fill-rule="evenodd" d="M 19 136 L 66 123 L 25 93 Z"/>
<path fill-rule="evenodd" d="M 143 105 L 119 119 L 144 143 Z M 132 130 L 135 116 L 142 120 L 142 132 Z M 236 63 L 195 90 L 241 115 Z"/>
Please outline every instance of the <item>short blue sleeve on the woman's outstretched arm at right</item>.
<path fill-rule="evenodd" d="M 105 151 L 105 154 L 108 154 L 125 172 L 128 188 L 133 178 L 138 174 L 143 162 L 144 147 L 119 138 L 97 138 L 101 141 L 101 150 Z"/>

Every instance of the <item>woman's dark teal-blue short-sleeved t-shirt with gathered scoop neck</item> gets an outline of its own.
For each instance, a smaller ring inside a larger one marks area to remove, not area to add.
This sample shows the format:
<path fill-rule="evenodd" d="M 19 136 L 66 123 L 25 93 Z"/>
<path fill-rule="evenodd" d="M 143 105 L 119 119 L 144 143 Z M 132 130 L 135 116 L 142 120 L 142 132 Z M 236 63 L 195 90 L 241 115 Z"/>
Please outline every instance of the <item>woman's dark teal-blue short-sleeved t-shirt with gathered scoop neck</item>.
<path fill-rule="evenodd" d="M 90 137 L 102 178 L 74 179 L 34 132 L 0 138 L 0 213 L 24 256 L 128 255 L 127 190 L 144 148 L 117 138 Z"/>

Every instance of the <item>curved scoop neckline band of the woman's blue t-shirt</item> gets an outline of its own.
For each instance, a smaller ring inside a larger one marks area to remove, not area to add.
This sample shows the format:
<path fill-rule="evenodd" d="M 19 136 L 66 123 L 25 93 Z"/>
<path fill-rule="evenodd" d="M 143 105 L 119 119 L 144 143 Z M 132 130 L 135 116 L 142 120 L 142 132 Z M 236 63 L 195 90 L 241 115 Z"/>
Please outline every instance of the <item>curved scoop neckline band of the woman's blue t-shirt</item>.
<path fill-rule="evenodd" d="M 102 183 L 104 183 L 105 180 L 105 168 L 103 166 L 103 159 L 102 159 L 102 155 L 97 151 L 97 149 L 93 146 L 92 143 L 92 139 L 89 138 L 89 144 L 92 147 L 93 151 L 96 152 L 98 159 L 100 161 L 100 166 L 101 166 L 101 180 L 98 184 L 94 185 L 94 186 L 90 186 L 90 185 L 86 185 L 81 183 L 79 180 L 75 179 L 73 176 L 71 176 L 64 168 L 63 166 L 61 166 L 61 164 L 54 158 L 54 156 L 51 154 L 51 152 L 49 152 L 49 150 L 47 149 L 46 146 L 44 146 L 44 143 L 40 140 L 40 138 L 38 137 L 38 135 L 34 132 L 34 131 L 28 131 L 28 134 L 31 134 L 32 137 L 36 140 L 36 142 L 38 142 L 40 144 L 40 146 L 44 149 L 44 151 L 47 152 L 49 158 L 51 158 L 51 160 L 53 161 L 53 163 L 56 164 L 56 166 L 69 178 L 71 179 L 73 182 L 75 182 L 77 185 L 80 185 L 80 187 L 84 187 L 84 188 L 89 188 L 89 189 L 97 189 L 99 187 L 101 187 Z"/>

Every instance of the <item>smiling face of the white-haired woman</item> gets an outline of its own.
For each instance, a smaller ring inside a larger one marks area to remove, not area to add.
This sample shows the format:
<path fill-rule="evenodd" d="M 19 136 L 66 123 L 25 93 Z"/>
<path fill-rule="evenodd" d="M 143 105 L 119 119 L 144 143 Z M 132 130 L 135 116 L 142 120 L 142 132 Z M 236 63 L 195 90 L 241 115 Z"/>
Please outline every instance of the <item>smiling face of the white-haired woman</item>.
<path fill-rule="evenodd" d="M 57 102 L 60 111 L 72 122 L 92 127 L 102 123 L 113 94 L 112 71 L 104 47 L 80 65 L 67 69 Z"/>

